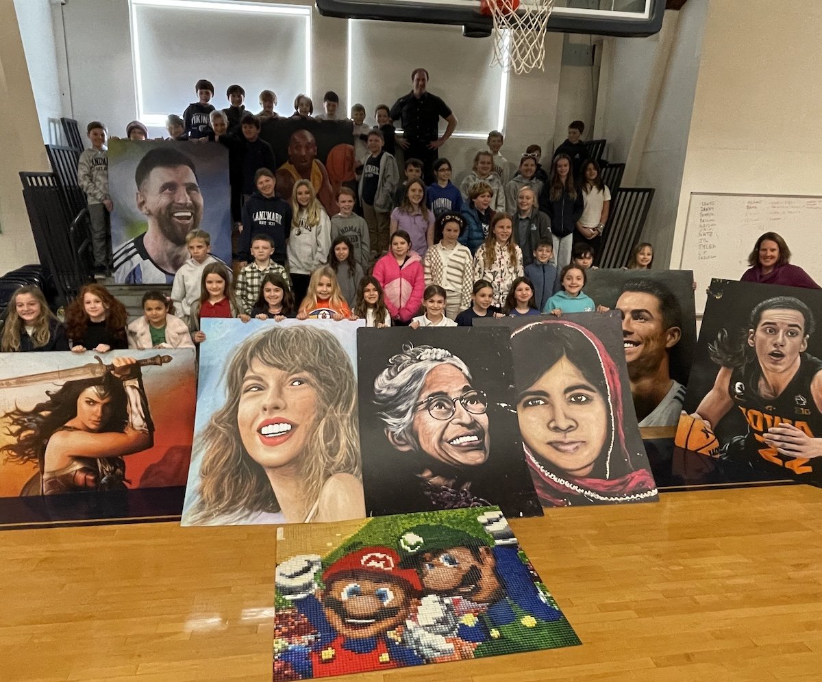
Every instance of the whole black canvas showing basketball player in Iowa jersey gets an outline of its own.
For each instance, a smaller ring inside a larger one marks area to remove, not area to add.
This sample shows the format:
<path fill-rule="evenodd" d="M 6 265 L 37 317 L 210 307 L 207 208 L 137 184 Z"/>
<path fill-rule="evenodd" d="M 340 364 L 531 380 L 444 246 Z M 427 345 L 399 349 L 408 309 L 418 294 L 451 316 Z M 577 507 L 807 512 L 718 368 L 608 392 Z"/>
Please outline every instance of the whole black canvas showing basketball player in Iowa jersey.
<path fill-rule="evenodd" d="M 723 280 L 710 291 L 675 444 L 822 484 L 822 293 Z"/>

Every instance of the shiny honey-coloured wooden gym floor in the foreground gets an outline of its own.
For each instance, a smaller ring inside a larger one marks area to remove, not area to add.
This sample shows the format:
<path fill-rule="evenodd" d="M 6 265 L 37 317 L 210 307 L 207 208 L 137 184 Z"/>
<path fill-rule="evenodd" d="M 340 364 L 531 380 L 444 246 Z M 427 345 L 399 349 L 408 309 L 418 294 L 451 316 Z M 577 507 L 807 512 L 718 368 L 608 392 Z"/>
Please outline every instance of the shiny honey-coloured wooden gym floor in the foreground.
<path fill-rule="evenodd" d="M 820 518 L 822 490 L 772 486 L 512 519 L 583 646 L 358 679 L 819 680 Z M 275 537 L 0 533 L 0 679 L 270 680 Z"/>

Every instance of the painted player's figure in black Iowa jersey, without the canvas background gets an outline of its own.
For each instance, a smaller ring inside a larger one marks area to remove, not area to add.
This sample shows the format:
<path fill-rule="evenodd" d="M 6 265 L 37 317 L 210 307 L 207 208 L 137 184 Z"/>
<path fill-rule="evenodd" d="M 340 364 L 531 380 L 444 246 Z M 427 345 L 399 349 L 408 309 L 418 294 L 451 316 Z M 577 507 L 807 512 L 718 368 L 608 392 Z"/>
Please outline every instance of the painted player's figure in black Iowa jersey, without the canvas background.
<path fill-rule="evenodd" d="M 741 338 L 721 329 L 709 344 L 720 369 L 691 416 L 713 429 L 737 408 L 747 424 L 721 455 L 822 481 L 822 361 L 806 353 L 814 326 L 806 303 L 771 297 L 750 312 Z"/>

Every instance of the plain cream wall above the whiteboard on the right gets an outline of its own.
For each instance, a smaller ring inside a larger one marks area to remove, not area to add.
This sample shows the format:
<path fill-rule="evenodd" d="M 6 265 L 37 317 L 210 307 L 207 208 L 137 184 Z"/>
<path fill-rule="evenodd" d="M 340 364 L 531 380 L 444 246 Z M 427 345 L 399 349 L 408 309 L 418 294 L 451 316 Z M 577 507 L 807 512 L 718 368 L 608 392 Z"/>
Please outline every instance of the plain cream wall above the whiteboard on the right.
<path fill-rule="evenodd" d="M 820 31 L 820 2 L 748 0 L 743 9 L 735 0 L 711 0 L 672 244 L 675 264 L 690 192 L 820 194 Z"/>

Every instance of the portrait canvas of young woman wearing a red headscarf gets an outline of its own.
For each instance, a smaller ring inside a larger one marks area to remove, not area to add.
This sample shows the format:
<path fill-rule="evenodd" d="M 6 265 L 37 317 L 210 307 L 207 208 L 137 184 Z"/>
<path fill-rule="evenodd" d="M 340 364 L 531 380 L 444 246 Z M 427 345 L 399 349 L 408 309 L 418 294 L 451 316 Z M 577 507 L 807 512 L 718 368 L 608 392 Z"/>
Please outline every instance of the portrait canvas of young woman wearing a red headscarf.
<path fill-rule="evenodd" d="M 547 507 L 656 500 L 618 317 L 574 320 L 533 322 L 510 338 L 520 435 L 539 500 Z"/>

